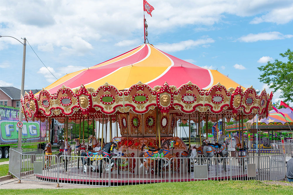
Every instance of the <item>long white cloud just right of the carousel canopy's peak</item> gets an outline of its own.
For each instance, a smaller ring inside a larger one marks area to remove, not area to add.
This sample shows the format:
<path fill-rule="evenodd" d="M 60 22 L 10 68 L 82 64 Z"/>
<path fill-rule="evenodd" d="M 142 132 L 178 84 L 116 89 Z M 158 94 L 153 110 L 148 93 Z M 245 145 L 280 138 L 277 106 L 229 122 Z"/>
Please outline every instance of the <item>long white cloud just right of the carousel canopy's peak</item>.
<path fill-rule="evenodd" d="M 214 39 L 206 38 L 206 39 L 197 39 L 197 40 L 187 40 L 181 41 L 179 43 L 161 43 L 157 44 L 156 47 L 166 52 L 174 52 L 174 51 L 183 51 L 186 49 L 190 49 L 196 46 L 205 45 L 207 43 L 214 43 Z"/>

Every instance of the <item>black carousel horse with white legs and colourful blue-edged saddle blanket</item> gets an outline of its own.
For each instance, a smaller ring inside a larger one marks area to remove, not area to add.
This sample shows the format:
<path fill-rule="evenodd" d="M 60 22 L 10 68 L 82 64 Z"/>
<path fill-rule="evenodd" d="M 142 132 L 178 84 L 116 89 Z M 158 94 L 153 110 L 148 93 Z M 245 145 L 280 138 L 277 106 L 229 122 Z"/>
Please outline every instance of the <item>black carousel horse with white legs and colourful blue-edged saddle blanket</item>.
<path fill-rule="evenodd" d="M 86 165 L 90 165 L 93 171 L 96 171 L 96 167 L 92 165 L 94 160 L 103 160 L 106 161 L 106 158 L 103 157 L 108 157 L 111 158 L 111 154 L 114 152 L 114 149 L 117 147 L 117 142 L 111 141 L 102 148 L 100 151 L 90 151 L 90 152 L 82 152 L 81 156 L 81 161 L 84 165 L 84 172 L 87 171 Z M 102 162 L 100 162 L 100 166 Z"/>

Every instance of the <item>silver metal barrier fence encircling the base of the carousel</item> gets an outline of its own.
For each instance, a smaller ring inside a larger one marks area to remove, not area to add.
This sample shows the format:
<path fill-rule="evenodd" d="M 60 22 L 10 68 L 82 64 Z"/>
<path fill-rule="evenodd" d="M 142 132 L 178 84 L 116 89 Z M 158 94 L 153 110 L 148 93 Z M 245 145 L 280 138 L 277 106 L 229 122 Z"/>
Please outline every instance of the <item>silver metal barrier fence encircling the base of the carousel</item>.
<path fill-rule="evenodd" d="M 86 155 L 86 153 L 82 153 Z M 281 180 L 283 154 L 212 158 L 138 158 L 45 155 L 10 149 L 9 172 L 20 180 L 118 186 L 197 180 Z"/>

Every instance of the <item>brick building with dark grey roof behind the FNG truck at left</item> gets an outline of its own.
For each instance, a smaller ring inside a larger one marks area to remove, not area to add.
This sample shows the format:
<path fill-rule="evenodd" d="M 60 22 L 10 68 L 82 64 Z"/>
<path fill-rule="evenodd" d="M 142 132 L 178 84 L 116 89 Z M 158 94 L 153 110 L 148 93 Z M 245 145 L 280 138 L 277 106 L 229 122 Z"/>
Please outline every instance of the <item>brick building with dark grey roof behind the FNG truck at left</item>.
<path fill-rule="evenodd" d="M 26 92 L 38 93 L 40 89 L 26 89 Z M 15 87 L 0 87 L 0 105 L 20 107 L 20 89 Z"/>

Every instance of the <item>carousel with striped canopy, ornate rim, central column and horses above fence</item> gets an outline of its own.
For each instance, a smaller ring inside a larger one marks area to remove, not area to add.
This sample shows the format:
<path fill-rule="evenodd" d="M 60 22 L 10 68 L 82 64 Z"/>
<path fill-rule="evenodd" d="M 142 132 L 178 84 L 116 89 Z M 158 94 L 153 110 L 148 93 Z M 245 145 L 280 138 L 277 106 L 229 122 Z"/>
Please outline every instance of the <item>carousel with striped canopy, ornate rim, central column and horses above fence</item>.
<path fill-rule="evenodd" d="M 202 121 L 229 122 L 231 118 L 243 121 L 255 115 L 265 118 L 272 107 L 271 100 L 272 93 L 268 94 L 265 89 L 258 95 L 252 86 L 244 88 L 217 70 L 188 63 L 145 43 L 98 65 L 67 74 L 38 94 L 26 93 L 21 102 L 27 120 L 50 123 L 54 118 L 65 123 L 65 137 L 68 137 L 69 122 L 113 123 L 114 132 L 113 125 L 105 134 L 104 125 L 96 130 L 97 133 L 93 128 L 92 141 L 88 144 L 93 150 L 77 155 L 86 165 L 86 157 L 98 159 L 99 155 L 105 154 L 111 158 L 113 153 L 109 151 L 112 146 L 117 151 L 122 148 L 125 157 L 145 158 L 142 163 L 128 163 L 124 170 L 133 172 L 151 158 L 170 159 L 184 155 L 188 158 L 194 149 L 197 155 L 206 157 L 217 154 L 213 152 L 214 146 L 210 146 L 210 150 L 202 147 L 207 145 L 202 136 L 193 147 L 189 137 L 186 145 L 177 137 L 176 121 L 197 122 L 201 135 Z M 82 131 L 79 129 L 79 134 Z M 190 131 L 189 127 L 189 136 Z M 229 144 L 225 139 L 226 132 L 222 136 L 217 141 L 222 141 L 225 147 Z M 106 137 L 112 141 L 104 143 Z M 243 133 L 241 141 L 243 146 Z M 103 151 L 106 146 L 108 151 L 101 154 L 100 149 Z M 224 151 L 221 145 L 215 147 L 219 147 L 217 150 L 220 152 Z M 115 171 L 115 168 L 111 170 Z"/>

